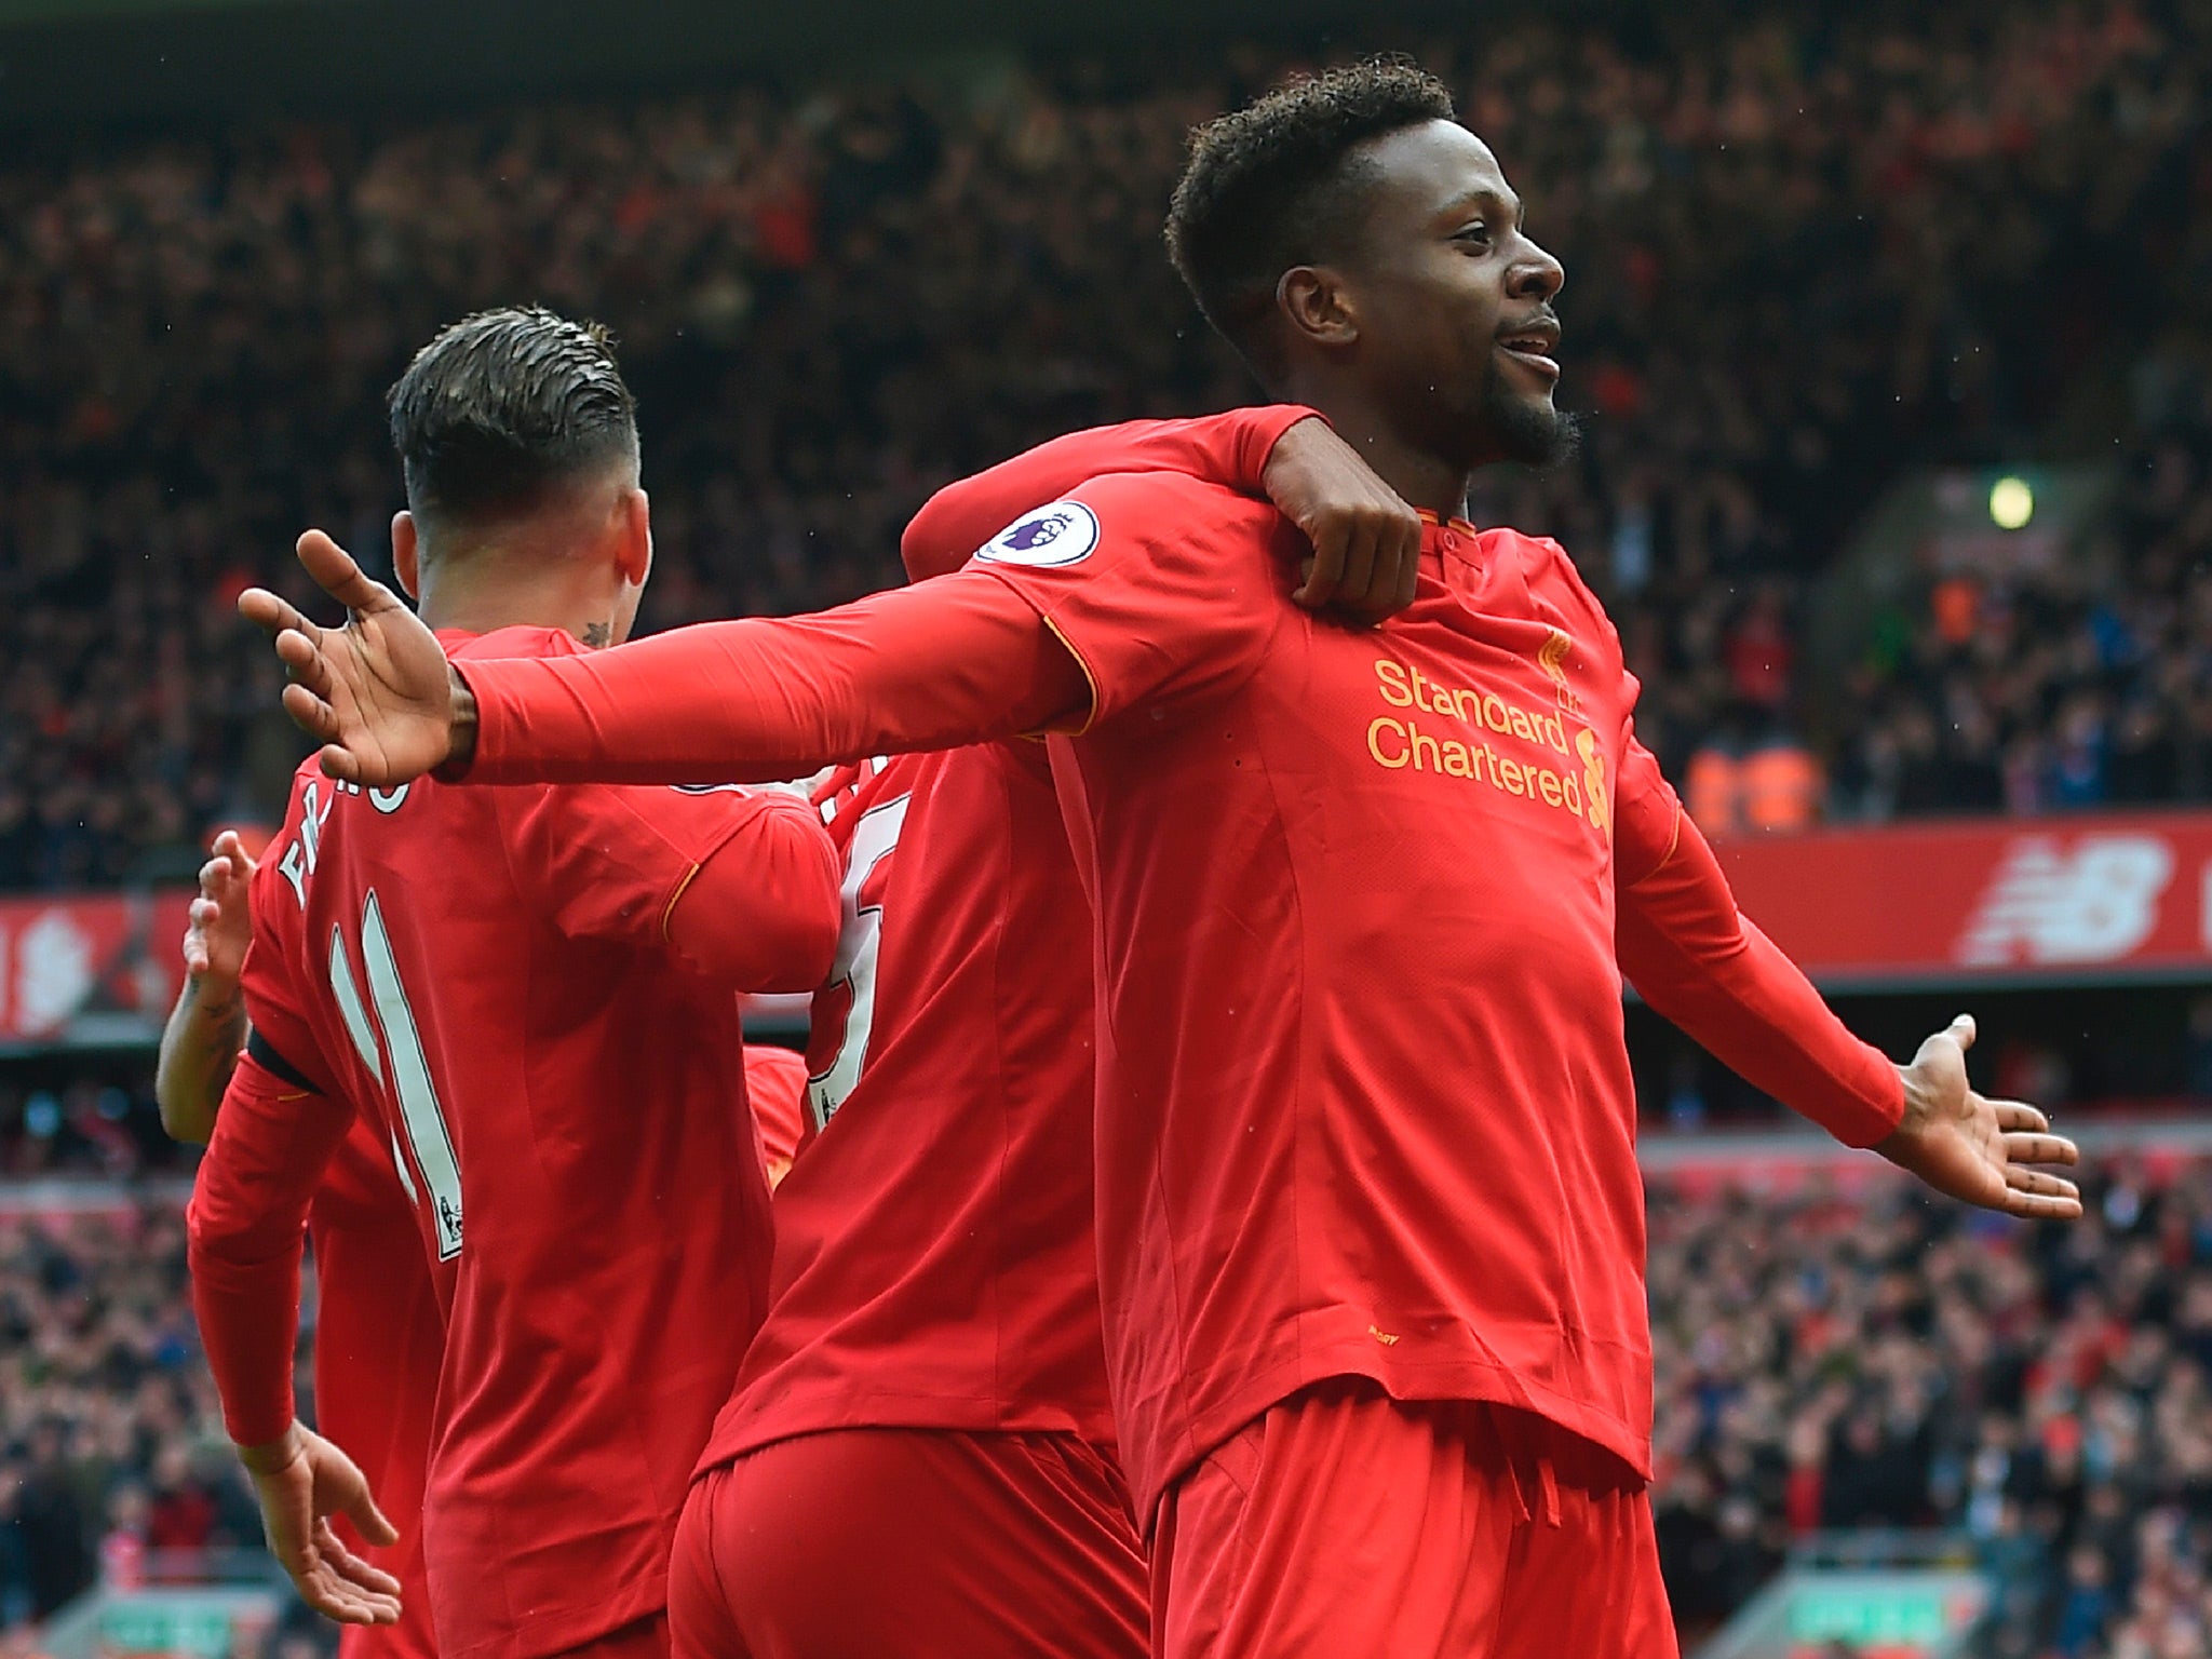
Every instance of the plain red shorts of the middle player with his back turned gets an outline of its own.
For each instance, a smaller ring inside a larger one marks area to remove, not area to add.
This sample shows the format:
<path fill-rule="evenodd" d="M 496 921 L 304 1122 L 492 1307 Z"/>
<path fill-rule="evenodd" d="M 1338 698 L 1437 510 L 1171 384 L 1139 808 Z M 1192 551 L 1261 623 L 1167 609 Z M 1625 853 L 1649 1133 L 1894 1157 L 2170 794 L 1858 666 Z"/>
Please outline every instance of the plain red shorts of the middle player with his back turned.
<path fill-rule="evenodd" d="M 681 1659 L 1146 1659 L 1121 1471 L 1062 1433 L 836 1429 L 690 1489 Z"/>

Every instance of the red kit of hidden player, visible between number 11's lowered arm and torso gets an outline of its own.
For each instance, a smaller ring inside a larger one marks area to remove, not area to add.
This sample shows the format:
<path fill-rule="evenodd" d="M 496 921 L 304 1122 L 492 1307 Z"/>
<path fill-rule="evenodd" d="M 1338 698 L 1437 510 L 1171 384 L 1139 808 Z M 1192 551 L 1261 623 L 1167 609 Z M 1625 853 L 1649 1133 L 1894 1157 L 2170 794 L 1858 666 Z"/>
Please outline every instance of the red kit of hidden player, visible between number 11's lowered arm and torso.
<path fill-rule="evenodd" d="M 341 1522 L 354 1548 L 400 1582 L 400 1621 L 345 1626 L 338 1648 L 345 1659 L 431 1659 L 438 1644 L 422 1562 L 422 1478 L 445 1318 L 380 1119 L 354 1119 L 314 1192 L 307 1237 L 316 1429 L 361 1464 L 376 1506 L 400 1533 L 392 1548 L 367 1551 Z"/>

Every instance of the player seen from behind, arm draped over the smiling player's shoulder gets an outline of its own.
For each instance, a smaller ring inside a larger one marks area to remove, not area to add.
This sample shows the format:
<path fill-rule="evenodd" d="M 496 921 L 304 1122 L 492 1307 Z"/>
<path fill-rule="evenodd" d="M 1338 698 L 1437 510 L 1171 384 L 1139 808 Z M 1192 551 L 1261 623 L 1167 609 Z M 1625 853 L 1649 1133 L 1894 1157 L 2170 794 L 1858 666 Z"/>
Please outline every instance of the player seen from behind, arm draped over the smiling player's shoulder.
<path fill-rule="evenodd" d="M 1418 538 L 1303 409 L 1088 434 L 987 495 L 1110 465 L 1272 487 L 1332 553 L 1396 531 L 1394 564 Z M 909 573 L 958 568 L 995 524 L 925 513 Z M 818 801 L 845 860 L 818 1133 L 677 1533 L 677 1650 L 1141 1659 L 1091 1219 L 1091 911 L 1044 748 L 865 761 Z"/>

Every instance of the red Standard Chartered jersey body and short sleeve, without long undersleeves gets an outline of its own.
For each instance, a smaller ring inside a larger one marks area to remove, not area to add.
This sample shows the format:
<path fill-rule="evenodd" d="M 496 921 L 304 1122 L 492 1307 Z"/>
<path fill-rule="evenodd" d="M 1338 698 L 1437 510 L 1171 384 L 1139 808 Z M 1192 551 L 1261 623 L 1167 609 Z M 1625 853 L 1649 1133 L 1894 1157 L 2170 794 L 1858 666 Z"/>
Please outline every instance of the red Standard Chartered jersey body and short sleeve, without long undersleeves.
<path fill-rule="evenodd" d="M 973 566 L 1093 684 L 1088 730 L 1053 743 L 1099 909 L 1099 1265 L 1137 1513 L 1338 1374 L 1526 1407 L 1644 1469 L 1613 956 L 1635 681 L 1548 542 L 1433 526 L 1413 606 L 1358 630 L 1290 602 L 1281 538 L 1252 500 L 1124 476 Z"/>

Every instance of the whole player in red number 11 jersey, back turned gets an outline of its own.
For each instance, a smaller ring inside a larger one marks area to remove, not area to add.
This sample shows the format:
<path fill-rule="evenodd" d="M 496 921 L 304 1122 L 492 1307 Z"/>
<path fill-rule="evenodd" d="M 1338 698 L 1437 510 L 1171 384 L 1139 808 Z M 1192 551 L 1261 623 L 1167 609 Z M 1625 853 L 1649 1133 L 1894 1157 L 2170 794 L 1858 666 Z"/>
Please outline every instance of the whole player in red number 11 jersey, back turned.
<path fill-rule="evenodd" d="M 460 657 L 624 637 L 650 568 L 604 338 L 440 334 L 392 394 L 400 580 Z M 190 1210 L 208 1360 L 279 1559 L 387 1621 L 321 1522 L 387 1526 L 292 1418 L 299 1217 L 356 1117 L 398 1157 L 447 1343 L 422 1500 L 445 1659 L 666 1650 L 684 1489 L 763 1303 L 737 991 L 814 987 L 836 858 L 750 790 L 352 790 L 303 768 L 252 891 L 239 1062 Z"/>

